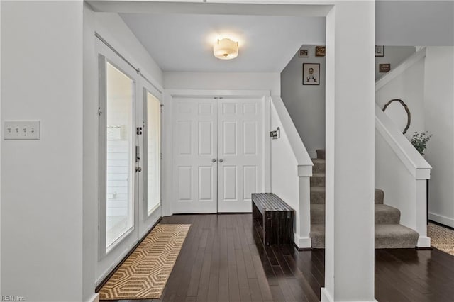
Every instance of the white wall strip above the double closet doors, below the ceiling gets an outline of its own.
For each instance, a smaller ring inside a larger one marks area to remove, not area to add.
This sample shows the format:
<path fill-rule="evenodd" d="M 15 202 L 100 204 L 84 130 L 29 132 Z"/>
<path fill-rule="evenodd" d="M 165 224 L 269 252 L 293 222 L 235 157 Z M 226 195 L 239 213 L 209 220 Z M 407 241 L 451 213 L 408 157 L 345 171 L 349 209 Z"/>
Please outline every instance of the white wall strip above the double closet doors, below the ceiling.
<path fill-rule="evenodd" d="M 279 73 L 165 72 L 165 89 L 269 90 L 281 93 Z"/>

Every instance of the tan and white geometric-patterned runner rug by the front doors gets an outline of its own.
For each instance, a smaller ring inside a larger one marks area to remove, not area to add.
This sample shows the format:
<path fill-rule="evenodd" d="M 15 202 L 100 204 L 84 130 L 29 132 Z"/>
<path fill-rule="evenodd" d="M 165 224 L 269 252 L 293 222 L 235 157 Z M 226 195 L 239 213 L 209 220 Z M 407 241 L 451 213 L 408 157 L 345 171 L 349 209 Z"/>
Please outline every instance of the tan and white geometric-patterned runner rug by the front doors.
<path fill-rule="evenodd" d="M 190 226 L 157 224 L 104 284 L 99 299 L 161 298 Z"/>

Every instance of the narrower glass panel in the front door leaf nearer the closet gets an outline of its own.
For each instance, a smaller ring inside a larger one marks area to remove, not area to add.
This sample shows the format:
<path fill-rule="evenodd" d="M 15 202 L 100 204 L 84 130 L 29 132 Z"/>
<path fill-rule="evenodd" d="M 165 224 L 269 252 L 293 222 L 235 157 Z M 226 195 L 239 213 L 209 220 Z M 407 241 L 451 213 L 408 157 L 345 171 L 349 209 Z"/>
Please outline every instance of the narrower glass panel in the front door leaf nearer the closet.
<path fill-rule="evenodd" d="M 147 91 L 147 212 L 160 204 L 160 101 Z"/>

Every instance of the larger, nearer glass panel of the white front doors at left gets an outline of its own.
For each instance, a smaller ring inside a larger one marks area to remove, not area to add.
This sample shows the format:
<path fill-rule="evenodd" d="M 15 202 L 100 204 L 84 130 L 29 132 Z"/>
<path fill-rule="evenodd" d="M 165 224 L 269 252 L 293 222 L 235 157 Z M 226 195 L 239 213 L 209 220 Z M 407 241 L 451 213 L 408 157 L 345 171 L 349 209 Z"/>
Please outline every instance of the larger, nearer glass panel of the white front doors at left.
<path fill-rule="evenodd" d="M 106 62 L 106 251 L 134 226 L 134 89 Z"/>

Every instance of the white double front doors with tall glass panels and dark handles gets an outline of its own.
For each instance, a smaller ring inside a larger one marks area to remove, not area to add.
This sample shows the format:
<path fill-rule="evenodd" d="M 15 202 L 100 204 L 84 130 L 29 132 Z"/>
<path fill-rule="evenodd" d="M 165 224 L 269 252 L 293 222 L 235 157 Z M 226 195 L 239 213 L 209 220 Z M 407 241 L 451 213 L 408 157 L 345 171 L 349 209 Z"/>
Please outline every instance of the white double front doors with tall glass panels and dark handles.
<path fill-rule="evenodd" d="M 99 284 L 161 217 L 161 94 L 101 40 L 96 51 Z"/>

